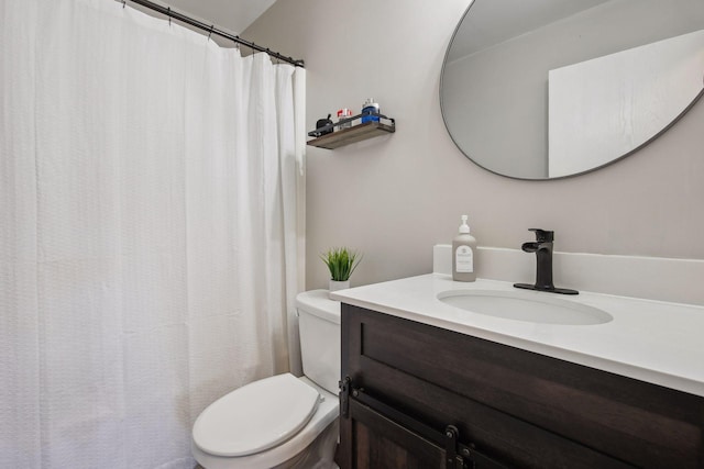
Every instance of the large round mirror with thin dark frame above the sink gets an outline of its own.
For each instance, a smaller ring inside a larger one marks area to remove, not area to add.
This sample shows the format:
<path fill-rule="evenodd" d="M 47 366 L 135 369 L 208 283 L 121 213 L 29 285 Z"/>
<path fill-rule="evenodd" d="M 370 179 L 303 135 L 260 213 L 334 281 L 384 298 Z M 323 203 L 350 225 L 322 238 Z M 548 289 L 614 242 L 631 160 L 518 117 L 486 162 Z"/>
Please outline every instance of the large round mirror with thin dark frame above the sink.
<path fill-rule="evenodd" d="M 472 161 L 553 179 L 636 152 L 703 90 L 702 0 L 474 0 L 440 105 Z"/>

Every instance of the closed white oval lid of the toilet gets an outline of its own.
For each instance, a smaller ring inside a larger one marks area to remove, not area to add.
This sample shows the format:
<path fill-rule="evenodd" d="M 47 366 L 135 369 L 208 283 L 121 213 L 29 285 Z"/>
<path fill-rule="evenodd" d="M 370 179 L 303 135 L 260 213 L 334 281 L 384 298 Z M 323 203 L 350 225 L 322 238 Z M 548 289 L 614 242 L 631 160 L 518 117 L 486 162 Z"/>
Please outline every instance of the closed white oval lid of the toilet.
<path fill-rule="evenodd" d="M 246 456 L 298 433 L 320 394 L 292 373 L 252 382 L 210 404 L 194 425 L 194 443 L 216 456 Z"/>

